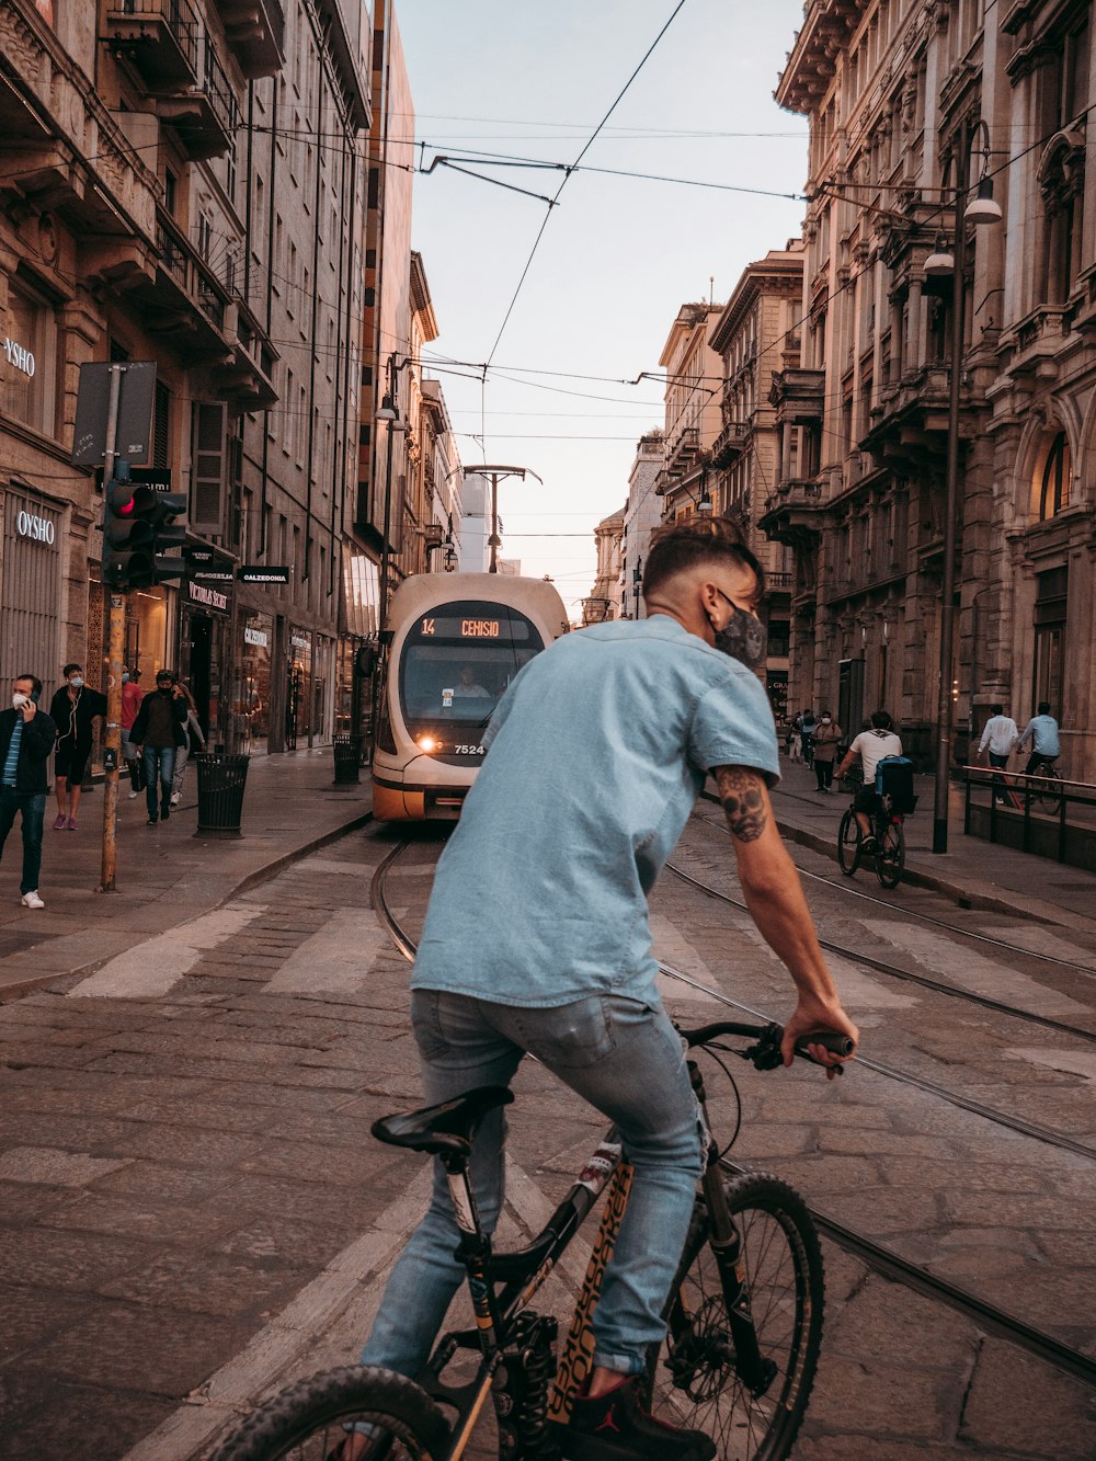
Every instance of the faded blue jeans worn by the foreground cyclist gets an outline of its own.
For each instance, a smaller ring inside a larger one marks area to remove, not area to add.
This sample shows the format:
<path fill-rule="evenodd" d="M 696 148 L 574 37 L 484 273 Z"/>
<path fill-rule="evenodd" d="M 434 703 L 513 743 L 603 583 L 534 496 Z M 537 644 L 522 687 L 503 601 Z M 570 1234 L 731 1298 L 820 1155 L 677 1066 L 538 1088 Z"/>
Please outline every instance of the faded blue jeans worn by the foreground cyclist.
<path fill-rule="evenodd" d="M 620 1128 L 636 1176 L 593 1316 L 593 1362 L 639 1373 L 647 1346 L 665 1334 L 661 1315 L 703 1160 L 697 1102 L 665 1011 L 620 995 L 519 1010 L 416 991 L 412 1021 L 427 1105 L 476 1086 L 509 1086 L 528 1050 Z M 472 1147 L 472 1188 L 488 1233 L 503 1205 L 504 1137 L 503 1112 L 494 1110 Z M 435 1161 L 430 1208 L 392 1273 L 362 1365 L 418 1373 L 465 1278 L 453 1258 L 459 1240 L 444 1169 Z"/>

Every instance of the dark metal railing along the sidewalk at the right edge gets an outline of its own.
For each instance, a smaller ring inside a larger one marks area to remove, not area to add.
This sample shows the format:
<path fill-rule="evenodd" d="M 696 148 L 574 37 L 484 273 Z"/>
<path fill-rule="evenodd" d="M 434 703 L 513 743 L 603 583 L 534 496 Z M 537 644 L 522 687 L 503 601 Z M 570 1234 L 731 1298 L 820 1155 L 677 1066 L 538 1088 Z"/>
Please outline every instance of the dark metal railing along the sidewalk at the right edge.
<path fill-rule="evenodd" d="M 962 770 L 967 836 L 1076 868 L 1096 866 L 1096 786 L 997 767 Z"/>

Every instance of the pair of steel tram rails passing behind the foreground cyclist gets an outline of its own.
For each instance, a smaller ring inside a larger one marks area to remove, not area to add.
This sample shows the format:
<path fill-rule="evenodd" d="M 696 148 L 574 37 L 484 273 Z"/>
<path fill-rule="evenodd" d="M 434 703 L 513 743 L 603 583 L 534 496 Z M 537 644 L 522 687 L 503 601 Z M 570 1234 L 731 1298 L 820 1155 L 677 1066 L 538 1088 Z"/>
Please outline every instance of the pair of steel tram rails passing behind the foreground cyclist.
<path fill-rule="evenodd" d="M 409 842 L 403 842 L 399 846 L 396 846 L 389 853 L 387 858 L 384 858 L 384 861 L 374 872 L 373 882 L 370 887 L 370 896 L 373 899 L 373 907 L 377 913 L 377 918 L 380 919 L 386 932 L 392 938 L 393 945 L 408 961 L 414 960 L 416 945 L 411 934 L 408 934 L 408 931 L 403 928 L 403 925 L 393 913 L 392 906 L 386 896 L 384 882 L 392 868 L 396 865 L 396 862 L 400 859 L 400 856 L 403 855 L 403 852 L 406 852 L 409 846 L 411 846 Z M 738 999 L 732 999 L 729 995 L 725 995 L 720 989 L 712 989 L 709 985 L 704 985 L 700 980 L 693 979 L 690 974 L 685 974 L 669 964 L 661 963 L 659 969 L 671 979 L 675 979 L 688 988 L 703 992 L 709 998 L 716 999 L 719 1004 L 725 1004 L 735 1010 L 739 1010 L 744 1014 L 748 1014 L 751 1018 L 757 1020 L 770 1018 L 770 1015 L 758 1010 L 754 1010 Z M 959 1093 L 947 1091 L 944 1087 L 934 1086 L 931 1081 L 922 1081 L 921 1077 L 910 1075 L 909 1072 L 894 1071 L 878 1062 L 865 1059 L 861 1055 L 856 1056 L 856 1064 L 880 1075 L 896 1080 L 905 1080 L 910 1084 L 924 1088 L 929 1094 L 940 1096 L 941 1099 L 948 1100 L 956 1106 L 962 1106 L 963 1109 L 970 1110 L 975 1115 L 983 1116 L 988 1121 L 995 1121 L 1000 1125 L 1010 1126 L 1011 1129 L 1019 1131 L 1024 1135 L 1030 1135 L 1035 1140 L 1048 1141 L 1049 1144 L 1062 1147 L 1067 1151 L 1074 1151 L 1080 1156 L 1089 1157 L 1090 1160 L 1096 1160 L 1096 1151 L 1083 1147 L 1078 1143 L 1070 1141 L 1068 1137 L 1058 1137 L 1057 1132 L 1045 1131 L 1043 1128 L 1036 1126 L 1030 1122 L 1016 1121 L 1007 1116 L 1004 1112 L 995 1112 L 992 1107 L 981 1106 L 981 1103 L 970 1102 L 966 1097 L 960 1096 Z M 748 1167 L 741 1166 L 739 1163 L 729 1161 L 728 1159 L 723 1159 L 723 1164 L 735 1172 L 750 1170 Z M 959 1284 L 953 1284 L 945 1278 L 938 1278 L 935 1274 L 929 1273 L 929 1270 L 926 1270 L 924 1265 L 915 1264 L 910 1259 L 903 1258 L 893 1249 L 886 1248 L 881 1243 L 877 1243 L 874 1239 L 868 1237 L 864 1233 L 859 1233 L 856 1229 L 852 1229 L 845 1223 L 837 1221 L 836 1218 L 827 1216 L 814 1205 L 808 1204 L 808 1207 L 811 1217 L 814 1218 L 820 1232 L 823 1232 L 827 1237 L 830 1237 L 830 1240 L 834 1242 L 839 1248 L 845 1249 L 852 1256 L 858 1258 L 871 1271 L 880 1274 L 884 1278 L 888 1278 L 893 1283 L 900 1283 L 906 1289 L 910 1289 L 915 1293 L 934 1299 L 935 1302 L 944 1305 L 945 1308 L 954 1311 L 956 1313 L 962 1313 L 964 1318 L 970 1319 L 985 1332 L 995 1334 L 1000 1338 L 1007 1340 L 1008 1343 L 1024 1350 L 1027 1354 L 1032 1354 L 1035 1359 L 1039 1359 L 1043 1363 L 1049 1365 L 1055 1370 L 1059 1370 L 1064 1375 L 1070 1375 L 1074 1379 L 1080 1379 L 1087 1385 L 1096 1386 L 1096 1359 L 1092 1359 L 1083 1350 L 1074 1349 L 1073 1346 L 1065 1344 L 1062 1340 L 1055 1338 L 1052 1334 L 1046 1334 L 1043 1330 L 1039 1330 L 1035 1325 L 1027 1324 L 1017 1315 L 1010 1313 L 1007 1309 L 1001 1309 L 998 1305 L 981 1299 L 976 1293 L 972 1293 L 969 1289 L 963 1289 Z"/>

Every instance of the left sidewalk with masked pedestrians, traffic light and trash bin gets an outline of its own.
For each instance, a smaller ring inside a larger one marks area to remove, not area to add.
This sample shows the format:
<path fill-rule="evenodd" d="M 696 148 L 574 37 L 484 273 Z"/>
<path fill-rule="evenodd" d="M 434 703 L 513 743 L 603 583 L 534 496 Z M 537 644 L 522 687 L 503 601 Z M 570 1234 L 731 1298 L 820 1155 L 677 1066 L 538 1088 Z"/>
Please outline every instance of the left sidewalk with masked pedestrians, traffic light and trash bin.
<path fill-rule="evenodd" d="M 120 785 L 117 891 L 99 893 L 102 786 L 85 792 L 79 831 L 54 831 L 45 811 L 41 894 L 45 907 L 19 901 L 22 844 L 16 825 L 0 863 L 0 1002 L 58 974 L 91 972 L 140 944 L 262 882 L 361 825 L 370 808 L 361 783 L 333 786 L 330 747 L 254 757 L 248 766 L 243 837 L 196 837 L 197 774 L 191 766 L 171 820 L 146 827 L 145 796 Z"/>

